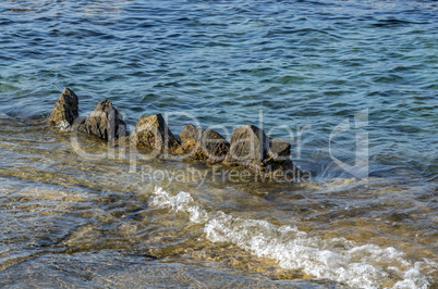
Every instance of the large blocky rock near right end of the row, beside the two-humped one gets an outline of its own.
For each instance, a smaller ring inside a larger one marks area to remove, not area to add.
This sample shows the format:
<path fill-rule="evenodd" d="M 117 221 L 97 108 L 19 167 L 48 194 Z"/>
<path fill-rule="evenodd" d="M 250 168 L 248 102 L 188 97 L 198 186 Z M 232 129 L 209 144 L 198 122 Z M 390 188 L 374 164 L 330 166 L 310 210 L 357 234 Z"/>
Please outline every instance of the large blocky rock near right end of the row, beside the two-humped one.
<path fill-rule="evenodd" d="M 269 150 L 269 138 L 255 125 L 239 126 L 231 135 L 230 152 L 226 163 L 263 171 L 263 161 Z"/>

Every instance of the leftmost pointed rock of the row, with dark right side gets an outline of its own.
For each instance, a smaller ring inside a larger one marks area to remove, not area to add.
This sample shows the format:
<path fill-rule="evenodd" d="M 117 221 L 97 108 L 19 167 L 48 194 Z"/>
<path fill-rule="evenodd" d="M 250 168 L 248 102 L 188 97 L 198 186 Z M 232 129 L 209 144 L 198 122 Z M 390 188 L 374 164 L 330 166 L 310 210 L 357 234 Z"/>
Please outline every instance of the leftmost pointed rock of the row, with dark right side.
<path fill-rule="evenodd" d="M 80 100 L 77 96 L 69 88 L 64 88 L 61 97 L 54 103 L 54 108 L 50 113 L 49 122 L 53 125 L 60 125 L 62 123 L 65 126 L 65 122 L 71 126 L 74 121 L 80 116 L 78 114 Z"/>

